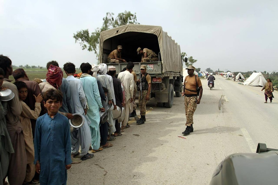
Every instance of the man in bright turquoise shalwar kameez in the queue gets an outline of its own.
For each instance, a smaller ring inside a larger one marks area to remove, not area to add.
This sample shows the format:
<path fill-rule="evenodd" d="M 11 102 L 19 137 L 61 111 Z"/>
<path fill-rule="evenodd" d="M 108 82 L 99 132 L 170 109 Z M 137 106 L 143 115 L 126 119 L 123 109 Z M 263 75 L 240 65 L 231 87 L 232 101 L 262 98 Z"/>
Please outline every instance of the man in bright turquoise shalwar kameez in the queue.
<path fill-rule="evenodd" d="M 101 98 L 98 90 L 98 83 L 96 78 L 92 77 L 92 66 L 89 63 L 82 63 L 81 66 L 82 75 L 80 80 L 83 85 L 83 90 L 87 97 L 87 116 L 91 121 L 90 129 L 91 129 L 91 147 L 93 150 L 98 151 L 100 147 L 100 115 L 99 110 L 105 111 L 102 106 Z"/>

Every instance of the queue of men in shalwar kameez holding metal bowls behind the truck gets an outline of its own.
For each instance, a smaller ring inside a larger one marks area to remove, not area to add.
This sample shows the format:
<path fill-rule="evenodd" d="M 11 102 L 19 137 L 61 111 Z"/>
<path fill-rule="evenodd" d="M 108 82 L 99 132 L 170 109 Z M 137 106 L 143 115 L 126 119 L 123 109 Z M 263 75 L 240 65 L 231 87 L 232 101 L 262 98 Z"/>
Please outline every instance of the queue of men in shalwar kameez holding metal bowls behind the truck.
<path fill-rule="evenodd" d="M 118 46 L 118 49 L 121 48 Z M 115 55 L 118 56 L 117 53 Z M 121 59 L 120 55 L 118 57 Z M 82 73 L 76 75 L 76 66 L 67 62 L 63 66 L 67 78 L 63 78 L 63 71 L 58 63 L 51 61 L 47 63 L 44 80 L 30 81 L 23 69 L 13 71 L 12 61 L 1 55 L 0 86 L 2 90 L 12 90 L 14 98 L 10 101 L 0 101 L 0 131 L 3 133 L 0 148 L 0 185 L 6 183 L 7 176 L 11 185 L 39 183 L 39 173 L 36 173 L 39 171 L 34 165 L 38 162 L 34 161 L 32 140 L 36 119 L 47 112 L 43 106 L 45 102 L 42 101 L 42 95 L 50 89 L 60 90 L 63 94 L 60 114 L 72 119 L 72 114 L 78 113 L 84 119 L 81 127 L 71 128 L 72 164 L 93 158 L 94 153 L 112 147 L 111 141 L 122 136 L 123 129 L 130 127 L 129 117 L 136 115 L 134 99 L 140 80 L 137 81 L 133 67 L 134 64 L 128 62 L 126 69 L 120 72 L 116 71 L 114 66 L 107 68 L 106 64 L 82 63 Z M 142 94 L 139 97 L 141 118 L 137 121 L 138 125 L 146 121 L 146 102 L 150 99 L 151 91 L 151 77 L 147 74 L 146 66 L 141 65 L 140 70 Z M 118 77 L 117 72 L 120 72 Z M 9 80 L 10 75 L 16 81 L 14 84 Z M 113 114 L 107 112 L 111 107 L 117 109 L 117 106 L 125 108 L 122 121 L 114 119 Z M 105 123 L 100 123 L 100 112 L 108 114 Z"/>

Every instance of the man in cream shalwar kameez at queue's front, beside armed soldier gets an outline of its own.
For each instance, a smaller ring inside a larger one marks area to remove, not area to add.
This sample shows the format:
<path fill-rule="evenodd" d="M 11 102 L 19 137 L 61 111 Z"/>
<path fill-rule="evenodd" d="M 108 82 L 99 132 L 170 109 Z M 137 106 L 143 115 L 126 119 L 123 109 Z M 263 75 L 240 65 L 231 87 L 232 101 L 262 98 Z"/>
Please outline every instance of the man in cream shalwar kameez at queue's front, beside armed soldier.
<path fill-rule="evenodd" d="M 120 79 L 125 89 L 125 119 L 122 121 L 123 128 L 130 127 L 128 124 L 129 114 L 133 110 L 133 107 L 131 107 L 131 102 L 133 101 L 133 91 L 134 91 L 134 82 L 133 82 L 134 77 L 131 74 L 133 67 L 134 64 L 132 62 L 128 62 L 127 70 L 120 72 L 118 75 L 118 79 Z"/>

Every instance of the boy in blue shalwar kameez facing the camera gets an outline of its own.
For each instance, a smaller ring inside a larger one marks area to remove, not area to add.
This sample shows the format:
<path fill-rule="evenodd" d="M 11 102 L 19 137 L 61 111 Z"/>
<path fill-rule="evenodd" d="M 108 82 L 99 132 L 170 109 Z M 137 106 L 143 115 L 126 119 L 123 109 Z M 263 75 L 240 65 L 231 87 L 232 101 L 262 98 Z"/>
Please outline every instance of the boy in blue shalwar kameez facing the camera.
<path fill-rule="evenodd" d="M 58 113 L 62 101 L 60 90 L 47 90 L 43 95 L 47 113 L 36 121 L 34 164 L 41 185 L 66 184 L 67 170 L 71 167 L 69 120 Z"/>

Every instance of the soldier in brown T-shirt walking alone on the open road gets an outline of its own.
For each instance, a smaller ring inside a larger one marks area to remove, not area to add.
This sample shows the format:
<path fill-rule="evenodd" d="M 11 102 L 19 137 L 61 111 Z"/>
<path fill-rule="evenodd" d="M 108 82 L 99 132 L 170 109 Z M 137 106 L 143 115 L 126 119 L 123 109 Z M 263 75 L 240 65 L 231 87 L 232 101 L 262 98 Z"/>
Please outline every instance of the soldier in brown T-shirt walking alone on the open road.
<path fill-rule="evenodd" d="M 182 96 L 184 97 L 184 107 L 185 107 L 185 115 L 186 115 L 186 129 L 182 132 L 183 135 L 189 135 L 190 132 L 193 132 L 193 114 L 197 108 L 197 104 L 200 103 L 203 88 L 202 83 L 199 77 L 194 75 L 195 67 L 189 66 L 186 68 L 188 76 L 184 79 L 184 90 L 182 92 Z M 197 99 L 197 87 L 200 88 L 200 95 Z"/>

